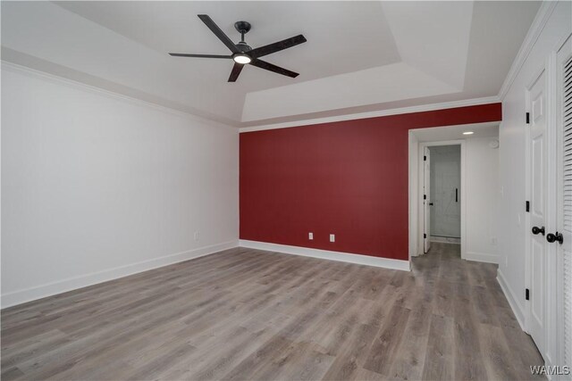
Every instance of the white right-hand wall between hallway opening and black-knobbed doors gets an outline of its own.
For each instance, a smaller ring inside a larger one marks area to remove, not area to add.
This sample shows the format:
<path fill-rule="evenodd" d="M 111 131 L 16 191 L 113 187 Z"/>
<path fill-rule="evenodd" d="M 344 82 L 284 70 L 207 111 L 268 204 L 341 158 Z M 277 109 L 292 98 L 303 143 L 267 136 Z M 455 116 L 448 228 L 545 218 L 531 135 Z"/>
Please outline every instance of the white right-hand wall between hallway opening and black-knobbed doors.
<path fill-rule="evenodd" d="M 521 326 L 526 288 L 526 87 L 540 74 L 552 51 L 570 33 L 572 3 L 559 2 L 551 12 L 526 61 L 502 101 L 500 128 L 499 279 Z M 549 227 L 551 228 L 551 227 Z"/>

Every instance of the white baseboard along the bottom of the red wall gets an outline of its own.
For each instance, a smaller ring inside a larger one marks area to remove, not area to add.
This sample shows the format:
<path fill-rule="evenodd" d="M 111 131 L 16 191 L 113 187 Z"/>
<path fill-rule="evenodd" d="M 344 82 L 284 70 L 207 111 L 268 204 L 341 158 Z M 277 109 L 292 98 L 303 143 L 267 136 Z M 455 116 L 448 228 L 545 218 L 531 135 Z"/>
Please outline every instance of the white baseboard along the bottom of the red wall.
<path fill-rule="evenodd" d="M 301 255 L 304 257 L 319 258 L 322 260 L 357 263 L 360 265 L 375 266 L 384 269 L 400 269 L 403 271 L 410 270 L 409 261 L 393 260 L 391 258 L 379 258 L 362 254 L 331 252 L 329 250 L 310 249 L 307 247 L 290 246 L 287 244 L 269 244 L 266 242 L 248 241 L 245 239 L 241 239 L 239 241 L 239 245 L 249 249 Z"/>

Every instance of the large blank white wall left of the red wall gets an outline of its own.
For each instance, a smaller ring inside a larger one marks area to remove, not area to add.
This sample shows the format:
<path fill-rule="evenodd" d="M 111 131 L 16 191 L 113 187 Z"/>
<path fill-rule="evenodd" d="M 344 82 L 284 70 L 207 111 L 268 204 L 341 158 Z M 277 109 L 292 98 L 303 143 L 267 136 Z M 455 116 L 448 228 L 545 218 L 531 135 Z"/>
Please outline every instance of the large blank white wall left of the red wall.
<path fill-rule="evenodd" d="M 236 246 L 238 148 L 235 128 L 3 64 L 2 306 Z"/>

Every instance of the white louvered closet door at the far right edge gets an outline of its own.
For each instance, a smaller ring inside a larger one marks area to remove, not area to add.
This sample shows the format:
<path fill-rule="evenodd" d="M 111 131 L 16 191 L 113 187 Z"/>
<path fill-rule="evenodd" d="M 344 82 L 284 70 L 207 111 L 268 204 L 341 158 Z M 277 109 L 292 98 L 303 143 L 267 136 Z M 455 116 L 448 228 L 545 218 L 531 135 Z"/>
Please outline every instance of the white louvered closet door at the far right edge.
<path fill-rule="evenodd" d="M 572 38 L 572 37 L 571 37 Z M 558 244 L 559 269 L 561 272 L 562 300 L 561 322 L 562 329 L 560 344 L 560 360 L 563 365 L 572 366 L 572 41 L 559 52 L 559 83 L 561 88 L 562 132 L 559 141 L 559 168 L 562 178 L 559 181 L 559 219 L 558 228 L 564 238 L 563 244 Z M 569 377 L 569 376 L 568 376 Z"/>

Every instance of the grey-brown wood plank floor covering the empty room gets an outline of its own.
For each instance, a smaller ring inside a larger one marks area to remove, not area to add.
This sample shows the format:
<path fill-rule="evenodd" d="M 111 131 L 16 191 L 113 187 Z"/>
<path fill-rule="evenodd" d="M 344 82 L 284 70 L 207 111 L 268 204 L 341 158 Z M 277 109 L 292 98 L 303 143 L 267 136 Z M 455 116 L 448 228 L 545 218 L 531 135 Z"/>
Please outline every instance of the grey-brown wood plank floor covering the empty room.
<path fill-rule="evenodd" d="M 410 273 L 232 249 L 2 311 L 2 380 L 530 379 L 495 277 L 454 244 Z"/>

